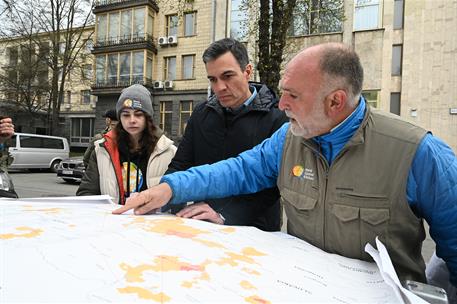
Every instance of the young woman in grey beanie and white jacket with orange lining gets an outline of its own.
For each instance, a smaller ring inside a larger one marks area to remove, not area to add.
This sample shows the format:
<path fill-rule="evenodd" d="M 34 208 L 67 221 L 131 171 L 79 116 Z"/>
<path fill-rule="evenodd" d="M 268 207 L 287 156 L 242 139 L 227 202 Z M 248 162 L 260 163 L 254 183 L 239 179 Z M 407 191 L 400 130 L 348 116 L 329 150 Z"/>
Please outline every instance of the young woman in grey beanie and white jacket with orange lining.
<path fill-rule="evenodd" d="M 116 112 L 120 123 L 95 142 L 76 195 L 108 194 L 123 205 L 132 193 L 159 183 L 176 147 L 154 125 L 151 94 L 144 86 L 122 90 Z"/>

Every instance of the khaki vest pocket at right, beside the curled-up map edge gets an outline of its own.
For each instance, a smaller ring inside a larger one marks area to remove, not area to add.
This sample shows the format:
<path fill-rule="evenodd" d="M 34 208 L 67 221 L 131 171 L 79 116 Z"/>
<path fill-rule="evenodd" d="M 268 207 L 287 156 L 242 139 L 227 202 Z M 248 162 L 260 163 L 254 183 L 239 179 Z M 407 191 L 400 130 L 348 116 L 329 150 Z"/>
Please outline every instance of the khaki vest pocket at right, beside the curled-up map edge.
<path fill-rule="evenodd" d="M 366 243 L 374 246 L 376 236 L 382 236 L 382 241 L 387 239 L 389 209 L 334 204 L 327 219 L 326 244 L 331 252 L 370 260 L 365 253 Z"/>

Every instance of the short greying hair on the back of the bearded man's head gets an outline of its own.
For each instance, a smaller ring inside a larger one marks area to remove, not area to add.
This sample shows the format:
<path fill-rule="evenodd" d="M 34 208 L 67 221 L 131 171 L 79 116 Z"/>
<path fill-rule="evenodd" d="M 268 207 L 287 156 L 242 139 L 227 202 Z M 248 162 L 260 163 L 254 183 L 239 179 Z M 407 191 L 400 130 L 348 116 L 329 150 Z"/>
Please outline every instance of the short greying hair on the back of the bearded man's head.
<path fill-rule="evenodd" d="M 319 66 L 321 72 L 344 79 L 354 97 L 361 94 L 363 68 L 359 56 L 352 48 L 344 44 L 325 47 Z"/>

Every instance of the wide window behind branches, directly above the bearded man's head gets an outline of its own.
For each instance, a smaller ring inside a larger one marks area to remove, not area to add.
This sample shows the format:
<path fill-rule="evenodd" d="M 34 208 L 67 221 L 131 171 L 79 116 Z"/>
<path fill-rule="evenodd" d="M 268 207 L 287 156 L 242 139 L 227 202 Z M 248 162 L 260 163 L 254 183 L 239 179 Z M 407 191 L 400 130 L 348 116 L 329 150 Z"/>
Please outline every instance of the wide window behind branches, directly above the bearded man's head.
<path fill-rule="evenodd" d="M 303 36 L 342 31 L 343 1 L 297 2 L 288 35 Z"/>

